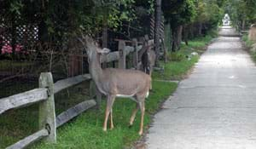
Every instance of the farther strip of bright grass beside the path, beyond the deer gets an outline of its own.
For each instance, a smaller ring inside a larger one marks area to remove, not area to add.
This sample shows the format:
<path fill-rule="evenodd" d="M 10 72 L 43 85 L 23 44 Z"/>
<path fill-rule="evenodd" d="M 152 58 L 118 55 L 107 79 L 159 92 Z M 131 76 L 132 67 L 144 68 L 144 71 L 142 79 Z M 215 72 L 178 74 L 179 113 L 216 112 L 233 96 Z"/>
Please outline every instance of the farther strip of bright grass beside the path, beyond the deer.
<path fill-rule="evenodd" d="M 153 72 L 153 78 L 157 80 L 182 80 L 188 75 L 188 70 L 199 60 L 199 55 L 191 55 L 191 53 L 202 54 L 207 44 L 212 41 L 212 37 L 215 36 L 208 35 L 207 37 L 195 38 L 189 41 L 189 45 L 182 43 L 180 50 L 169 54 L 171 61 L 160 62 L 160 66 L 165 68 L 165 72 Z"/>

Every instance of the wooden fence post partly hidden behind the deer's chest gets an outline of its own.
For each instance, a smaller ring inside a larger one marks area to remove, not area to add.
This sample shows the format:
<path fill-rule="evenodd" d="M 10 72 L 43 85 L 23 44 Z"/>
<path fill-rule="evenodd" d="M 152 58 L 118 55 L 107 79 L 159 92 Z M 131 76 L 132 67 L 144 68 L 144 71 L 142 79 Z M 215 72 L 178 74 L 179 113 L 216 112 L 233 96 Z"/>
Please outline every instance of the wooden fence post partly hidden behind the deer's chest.
<path fill-rule="evenodd" d="M 96 108 L 100 109 L 102 105 L 102 93 L 97 89 L 96 83 L 91 80 L 90 81 L 90 98 L 94 99 L 96 97 Z"/>

